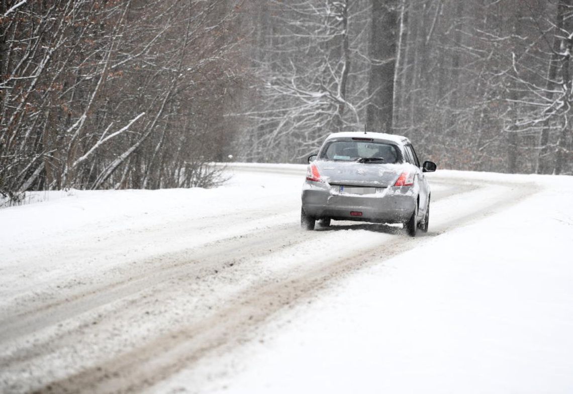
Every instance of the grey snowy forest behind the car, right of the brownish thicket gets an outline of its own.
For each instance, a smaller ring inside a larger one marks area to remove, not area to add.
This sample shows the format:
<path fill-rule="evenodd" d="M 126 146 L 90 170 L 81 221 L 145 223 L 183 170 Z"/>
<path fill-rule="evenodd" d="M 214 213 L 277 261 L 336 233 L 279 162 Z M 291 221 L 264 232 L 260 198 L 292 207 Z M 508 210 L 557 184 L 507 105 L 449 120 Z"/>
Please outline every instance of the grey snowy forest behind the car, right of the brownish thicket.
<path fill-rule="evenodd" d="M 304 161 L 366 125 L 442 168 L 572 173 L 573 1 L 260 5 L 242 159 Z"/>

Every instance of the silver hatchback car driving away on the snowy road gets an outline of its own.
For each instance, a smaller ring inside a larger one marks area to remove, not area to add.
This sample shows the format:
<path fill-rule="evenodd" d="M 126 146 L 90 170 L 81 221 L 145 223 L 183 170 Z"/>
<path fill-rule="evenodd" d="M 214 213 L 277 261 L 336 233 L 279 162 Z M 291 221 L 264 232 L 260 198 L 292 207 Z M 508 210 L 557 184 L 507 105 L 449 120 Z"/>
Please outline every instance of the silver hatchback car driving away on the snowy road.
<path fill-rule="evenodd" d="M 436 165 L 422 166 L 406 137 L 382 133 L 334 133 L 318 154 L 308 158 L 303 185 L 301 226 L 320 220 L 403 223 L 415 236 L 427 232 L 430 186 L 424 176 Z"/>

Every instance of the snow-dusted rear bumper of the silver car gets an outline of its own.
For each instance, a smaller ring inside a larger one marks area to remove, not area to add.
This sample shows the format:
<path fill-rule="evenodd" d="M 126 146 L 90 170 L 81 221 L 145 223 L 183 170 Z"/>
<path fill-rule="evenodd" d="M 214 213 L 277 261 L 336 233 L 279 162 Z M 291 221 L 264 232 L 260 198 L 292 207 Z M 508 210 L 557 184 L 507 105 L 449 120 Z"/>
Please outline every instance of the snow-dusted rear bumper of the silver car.
<path fill-rule="evenodd" d="M 376 194 L 359 196 L 340 194 L 331 186 L 309 182 L 305 183 L 302 196 L 308 216 L 378 223 L 407 221 L 415 210 L 416 199 L 417 194 L 411 187 L 390 186 L 379 189 Z M 362 212 L 362 216 L 352 216 L 351 212 Z"/>

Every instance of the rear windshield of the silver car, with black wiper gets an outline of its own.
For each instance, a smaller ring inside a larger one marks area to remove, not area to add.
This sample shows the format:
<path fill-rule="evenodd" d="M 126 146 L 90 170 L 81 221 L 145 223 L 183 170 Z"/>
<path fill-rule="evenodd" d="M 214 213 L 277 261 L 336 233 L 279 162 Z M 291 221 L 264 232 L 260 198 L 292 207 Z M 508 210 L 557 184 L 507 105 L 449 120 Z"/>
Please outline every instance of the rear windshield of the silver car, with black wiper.
<path fill-rule="evenodd" d="M 332 141 L 320 153 L 322 160 L 356 161 L 361 158 L 382 159 L 376 162 L 396 163 L 400 156 L 395 145 L 376 141 Z"/>

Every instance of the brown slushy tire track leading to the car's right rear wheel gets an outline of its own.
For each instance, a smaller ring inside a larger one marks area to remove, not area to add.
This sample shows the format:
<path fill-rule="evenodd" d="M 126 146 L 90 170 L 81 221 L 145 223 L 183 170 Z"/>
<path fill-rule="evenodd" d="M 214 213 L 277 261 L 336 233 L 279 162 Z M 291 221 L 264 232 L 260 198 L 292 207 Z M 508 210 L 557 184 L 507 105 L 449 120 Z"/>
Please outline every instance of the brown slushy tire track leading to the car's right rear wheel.
<path fill-rule="evenodd" d="M 437 236 L 458 226 L 500 212 L 536 192 L 537 188 L 531 185 L 515 186 L 513 190 L 502 188 L 503 197 L 481 205 L 477 210 L 475 207 L 469 207 L 462 216 L 438 221 L 438 224 L 434 225 L 437 230 L 431 230 L 430 235 Z M 452 196 L 453 194 L 450 193 L 449 196 L 442 198 Z M 441 198 L 434 201 L 439 200 Z M 359 228 L 386 230 L 380 225 L 358 226 Z M 350 226 L 337 227 L 338 229 L 326 231 L 336 232 L 336 230 Z M 322 233 L 320 231 L 304 234 L 305 237 L 311 234 L 316 237 L 317 234 Z M 430 239 L 430 237 L 398 236 L 382 245 L 352 256 L 317 262 L 304 272 L 295 275 L 284 273 L 272 282 L 253 284 L 234 296 L 230 305 L 219 309 L 208 319 L 156 337 L 103 364 L 44 385 L 37 392 L 139 392 L 189 367 L 207 353 L 217 351 L 217 349 L 220 351 L 229 349 L 243 340 L 248 340 L 246 333 L 250 331 L 249 329 L 264 324 L 272 315 L 288 305 L 316 296 L 321 289 L 327 288 L 332 285 L 332 282 L 340 280 L 346 274 L 364 266 L 379 264 Z"/>

